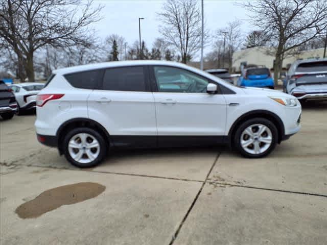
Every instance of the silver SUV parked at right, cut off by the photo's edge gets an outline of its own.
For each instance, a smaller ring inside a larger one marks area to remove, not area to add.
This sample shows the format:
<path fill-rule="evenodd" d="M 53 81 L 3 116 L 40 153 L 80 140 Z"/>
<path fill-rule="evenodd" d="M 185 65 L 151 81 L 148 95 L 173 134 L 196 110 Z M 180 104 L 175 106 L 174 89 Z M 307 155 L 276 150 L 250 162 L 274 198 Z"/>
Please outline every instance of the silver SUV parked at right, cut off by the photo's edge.
<path fill-rule="evenodd" d="M 295 61 L 286 76 L 284 92 L 298 100 L 327 100 L 327 58 Z"/>

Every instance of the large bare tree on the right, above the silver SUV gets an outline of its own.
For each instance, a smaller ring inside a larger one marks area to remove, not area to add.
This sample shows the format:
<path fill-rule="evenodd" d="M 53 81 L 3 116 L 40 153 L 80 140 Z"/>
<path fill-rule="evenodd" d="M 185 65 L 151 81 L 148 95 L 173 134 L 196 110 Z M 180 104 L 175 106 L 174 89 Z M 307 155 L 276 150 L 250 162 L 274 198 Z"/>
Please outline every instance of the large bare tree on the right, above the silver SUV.
<path fill-rule="evenodd" d="M 242 6 L 252 12 L 253 25 L 263 30 L 274 47 L 275 85 L 285 54 L 321 36 L 327 28 L 326 0 L 261 0 Z"/>

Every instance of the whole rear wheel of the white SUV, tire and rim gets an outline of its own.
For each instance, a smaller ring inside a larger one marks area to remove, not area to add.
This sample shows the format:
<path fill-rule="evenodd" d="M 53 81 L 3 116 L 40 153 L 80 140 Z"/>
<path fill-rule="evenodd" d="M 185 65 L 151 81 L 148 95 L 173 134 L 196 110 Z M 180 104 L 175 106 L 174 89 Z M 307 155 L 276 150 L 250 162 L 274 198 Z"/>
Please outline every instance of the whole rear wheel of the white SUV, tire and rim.
<path fill-rule="evenodd" d="M 68 132 L 63 143 L 66 159 L 77 167 L 94 167 L 106 156 L 106 141 L 91 128 L 77 128 Z"/>

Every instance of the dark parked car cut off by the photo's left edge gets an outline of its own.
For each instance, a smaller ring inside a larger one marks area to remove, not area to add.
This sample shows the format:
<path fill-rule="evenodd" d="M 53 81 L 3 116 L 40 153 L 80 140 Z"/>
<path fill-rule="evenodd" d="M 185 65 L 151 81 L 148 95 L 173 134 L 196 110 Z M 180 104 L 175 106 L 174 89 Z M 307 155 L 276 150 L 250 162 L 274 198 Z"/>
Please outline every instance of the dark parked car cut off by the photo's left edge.
<path fill-rule="evenodd" d="M 0 80 L 0 116 L 4 119 L 11 119 L 16 113 L 17 103 L 11 89 Z"/>

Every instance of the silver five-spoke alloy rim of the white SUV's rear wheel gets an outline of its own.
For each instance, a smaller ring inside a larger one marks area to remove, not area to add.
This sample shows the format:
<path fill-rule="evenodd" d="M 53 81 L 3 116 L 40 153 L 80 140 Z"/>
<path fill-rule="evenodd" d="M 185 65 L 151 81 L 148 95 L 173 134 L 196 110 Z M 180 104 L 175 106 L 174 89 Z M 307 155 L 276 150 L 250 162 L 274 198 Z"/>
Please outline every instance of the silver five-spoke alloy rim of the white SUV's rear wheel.
<path fill-rule="evenodd" d="M 90 163 L 100 154 L 100 143 L 92 135 L 79 133 L 68 142 L 69 155 L 79 163 Z"/>

